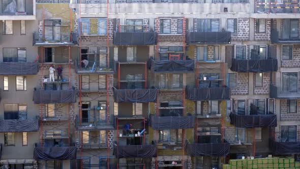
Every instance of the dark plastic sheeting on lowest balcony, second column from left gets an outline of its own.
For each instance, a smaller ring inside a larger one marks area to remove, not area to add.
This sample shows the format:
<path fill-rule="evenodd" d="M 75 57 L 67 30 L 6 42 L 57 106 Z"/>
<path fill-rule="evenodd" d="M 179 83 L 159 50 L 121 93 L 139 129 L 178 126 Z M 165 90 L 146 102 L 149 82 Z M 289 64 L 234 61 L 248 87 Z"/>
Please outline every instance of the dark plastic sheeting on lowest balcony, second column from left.
<path fill-rule="evenodd" d="M 76 147 L 36 147 L 36 160 L 68 160 L 76 159 Z"/>

